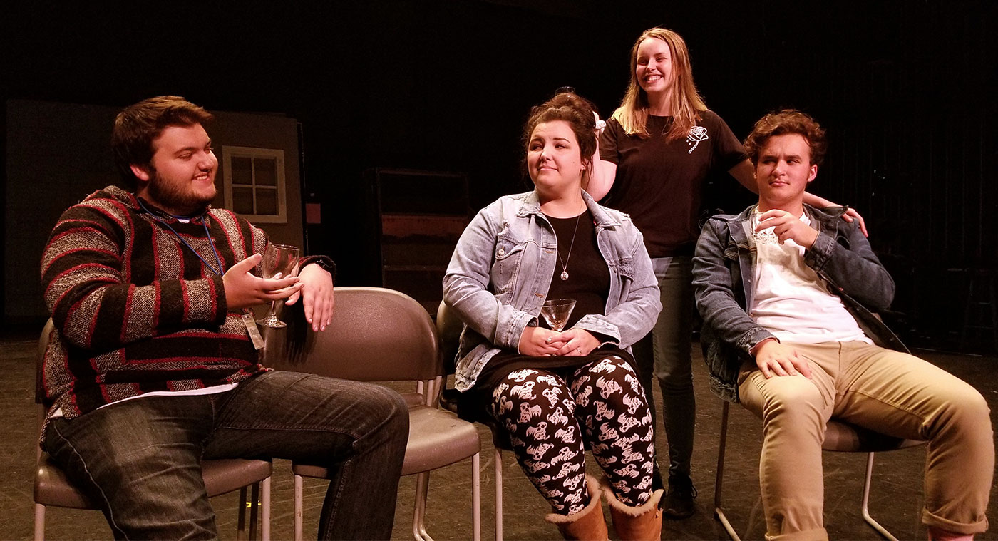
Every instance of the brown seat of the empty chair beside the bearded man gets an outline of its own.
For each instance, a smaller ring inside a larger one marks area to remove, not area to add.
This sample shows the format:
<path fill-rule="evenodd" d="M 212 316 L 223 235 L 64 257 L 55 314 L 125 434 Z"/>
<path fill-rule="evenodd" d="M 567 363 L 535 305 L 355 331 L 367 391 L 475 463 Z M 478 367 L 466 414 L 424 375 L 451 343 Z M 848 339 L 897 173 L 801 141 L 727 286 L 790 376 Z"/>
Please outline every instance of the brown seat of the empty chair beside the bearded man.
<path fill-rule="evenodd" d="M 409 441 L 402 475 L 429 471 L 474 456 L 481 449 L 475 425 L 450 411 L 418 405 L 409 409 Z M 322 466 L 293 463 L 295 475 L 328 478 Z"/>

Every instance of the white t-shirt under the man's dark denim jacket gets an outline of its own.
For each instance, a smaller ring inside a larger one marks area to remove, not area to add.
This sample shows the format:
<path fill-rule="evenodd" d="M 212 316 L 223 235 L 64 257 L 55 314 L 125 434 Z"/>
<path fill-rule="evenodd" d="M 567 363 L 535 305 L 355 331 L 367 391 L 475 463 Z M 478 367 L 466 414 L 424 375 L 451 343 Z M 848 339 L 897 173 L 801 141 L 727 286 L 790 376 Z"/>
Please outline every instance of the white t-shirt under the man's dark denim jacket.
<path fill-rule="evenodd" d="M 752 232 L 758 225 L 752 212 Z M 800 221 L 810 226 L 806 214 Z M 865 341 L 873 343 L 852 318 L 842 299 L 826 288 L 813 269 L 804 264 L 804 248 L 787 240 L 782 245 L 772 228 L 753 233 L 754 291 L 749 315 L 780 341 L 820 343 Z"/>

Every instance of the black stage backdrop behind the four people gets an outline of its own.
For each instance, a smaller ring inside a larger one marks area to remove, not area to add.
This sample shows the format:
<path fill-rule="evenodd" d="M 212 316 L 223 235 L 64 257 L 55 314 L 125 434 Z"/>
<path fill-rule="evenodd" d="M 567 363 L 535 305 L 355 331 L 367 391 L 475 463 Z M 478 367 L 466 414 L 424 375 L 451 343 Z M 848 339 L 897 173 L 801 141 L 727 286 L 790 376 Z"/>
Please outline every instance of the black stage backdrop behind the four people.
<path fill-rule="evenodd" d="M 635 37 L 669 26 L 688 40 L 708 105 L 739 137 L 779 107 L 827 127 L 813 190 L 866 217 L 899 282 L 900 326 L 951 347 L 969 276 L 998 267 L 995 9 L 926 0 L 25 4 L 0 21 L 0 95 L 117 108 L 169 93 L 297 119 L 302 193 L 322 206 L 309 249 L 337 260 L 340 283 L 371 283 L 377 276 L 357 261 L 370 242 L 359 232 L 375 219 L 360 211 L 365 169 L 464 173 L 474 209 L 525 190 L 520 130 L 530 106 L 570 85 L 609 115 Z M 712 207 L 730 211 L 751 202 L 730 178 L 713 180 L 710 193 Z"/>

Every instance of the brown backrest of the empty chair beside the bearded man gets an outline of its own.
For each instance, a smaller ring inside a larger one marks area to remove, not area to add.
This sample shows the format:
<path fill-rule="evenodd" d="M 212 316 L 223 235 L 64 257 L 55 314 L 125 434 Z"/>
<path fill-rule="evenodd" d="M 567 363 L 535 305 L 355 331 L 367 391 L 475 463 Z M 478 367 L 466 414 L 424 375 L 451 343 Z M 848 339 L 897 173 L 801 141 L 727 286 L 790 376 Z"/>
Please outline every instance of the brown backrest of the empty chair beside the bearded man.
<path fill-rule="evenodd" d="M 263 364 L 355 381 L 426 381 L 442 373 L 433 320 L 419 302 L 382 287 L 336 287 L 332 321 L 300 350 L 266 329 Z"/>

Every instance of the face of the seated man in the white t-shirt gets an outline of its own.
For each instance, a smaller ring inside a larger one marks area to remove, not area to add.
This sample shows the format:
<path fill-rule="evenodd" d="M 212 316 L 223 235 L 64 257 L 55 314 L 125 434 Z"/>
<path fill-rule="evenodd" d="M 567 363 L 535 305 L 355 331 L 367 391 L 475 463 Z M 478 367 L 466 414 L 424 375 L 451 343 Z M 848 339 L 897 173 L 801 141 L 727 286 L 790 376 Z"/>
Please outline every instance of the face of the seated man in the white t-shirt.
<path fill-rule="evenodd" d="M 804 190 L 816 176 L 817 166 L 810 163 L 810 145 L 802 135 L 770 137 L 755 163 L 759 211 L 780 209 L 798 216 Z"/>

